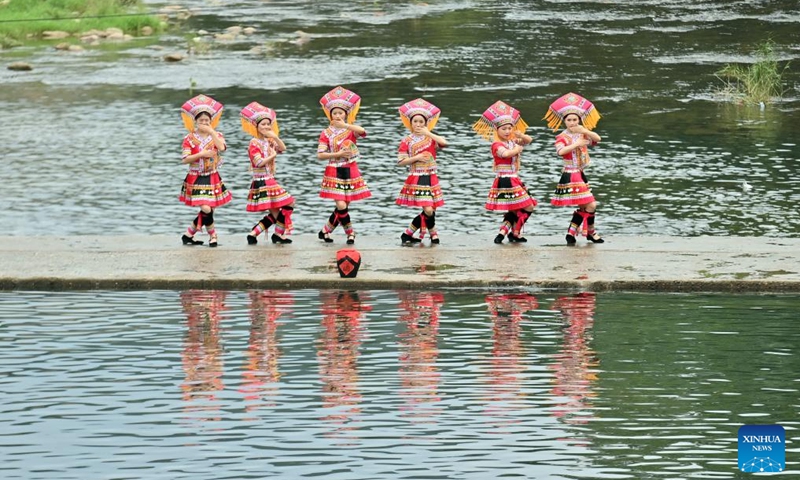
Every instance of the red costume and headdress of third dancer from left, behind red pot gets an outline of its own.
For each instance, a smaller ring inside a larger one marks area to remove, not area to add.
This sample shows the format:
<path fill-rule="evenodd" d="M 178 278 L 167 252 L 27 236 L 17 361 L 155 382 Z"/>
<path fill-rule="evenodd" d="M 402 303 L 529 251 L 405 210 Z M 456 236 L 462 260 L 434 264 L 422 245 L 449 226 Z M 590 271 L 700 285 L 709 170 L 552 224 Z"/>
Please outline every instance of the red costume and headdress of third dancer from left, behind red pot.
<path fill-rule="evenodd" d="M 352 124 L 355 122 L 358 109 L 361 107 L 361 97 L 344 87 L 336 87 L 326 93 L 319 100 L 319 103 L 322 105 L 322 110 L 329 121 L 331 120 L 331 110 L 341 108 L 347 112 L 347 123 Z M 366 137 L 366 132 L 361 136 Z M 336 153 L 345 149 L 349 149 L 352 152 L 350 158 L 331 158 L 328 160 L 325 174 L 322 177 L 320 197 L 344 201 L 349 204 L 372 196 L 367 187 L 367 182 L 361 177 L 361 171 L 358 169 L 357 140 L 358 137 L 352 130 L 335 128 L 332 125 L 320 134 L 317 153 Z M 343 210 L 334 208 L 333 213 L 328 218 L 328 222 L 319 232 L 320 240 L 325 240 L 328 243 L 332 242 L 333 239 L 330 238 L 330 234 L 339 224 L 342 225 L 347 235 L 347 243 L 355 243 L 355 230 L 350 221 L 350 212 L 347 207 Z"/>

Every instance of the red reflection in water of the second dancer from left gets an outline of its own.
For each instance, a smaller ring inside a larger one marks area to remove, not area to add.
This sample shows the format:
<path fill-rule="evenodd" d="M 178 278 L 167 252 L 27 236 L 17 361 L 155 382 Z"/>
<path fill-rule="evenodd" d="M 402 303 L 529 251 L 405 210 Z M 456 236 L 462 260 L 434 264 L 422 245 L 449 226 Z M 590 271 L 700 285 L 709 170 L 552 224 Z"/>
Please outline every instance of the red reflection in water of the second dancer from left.
<path fill-rule="evenodd" d="M 293 303 L 289 292 L 250 292 L 250 342 L 240 390 L 247 401 L 247 411 L 274 405 L 267 399 L 277 394 L 281 378 L 278 320 L 291 311 Z"/>

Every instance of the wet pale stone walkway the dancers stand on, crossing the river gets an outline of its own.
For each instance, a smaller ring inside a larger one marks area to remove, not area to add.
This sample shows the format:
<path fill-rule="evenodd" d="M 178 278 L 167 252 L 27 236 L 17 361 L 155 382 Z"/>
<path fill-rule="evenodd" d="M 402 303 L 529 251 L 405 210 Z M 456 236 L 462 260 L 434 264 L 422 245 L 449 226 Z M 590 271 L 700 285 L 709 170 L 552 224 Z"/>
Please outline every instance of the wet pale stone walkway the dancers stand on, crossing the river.
<path fill-rule="evenodd" d="M 241 240 L 241 241 L 237 241 Z M 222 237 L 220 247 L 186 247 L 168 236 L 0 237 L 0 287 L 9 289 L 293 287 L 426 288 L 519 286 L 595 290 L 797 291 L 800 240 L 756 237 L 615 237 L 568 247 L 551 237 L 526 244 L 478 245 L 453 236 L 446 245 L 401 247 L 392 237 L 362 236 L 362 265 L 340 278 L 336 252 L 312 235 L 292 245 L 249 246 Z M 348 246 L 349 248 L 349 246 Z"/>

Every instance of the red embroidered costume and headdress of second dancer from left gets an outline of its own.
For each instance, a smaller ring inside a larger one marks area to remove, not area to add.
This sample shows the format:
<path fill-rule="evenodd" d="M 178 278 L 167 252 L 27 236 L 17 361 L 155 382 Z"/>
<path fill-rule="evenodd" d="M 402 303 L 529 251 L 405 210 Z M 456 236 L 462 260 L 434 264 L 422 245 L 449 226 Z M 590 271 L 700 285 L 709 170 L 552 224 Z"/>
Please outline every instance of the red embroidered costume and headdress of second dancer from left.
<path fill-rule="evenodd" d="M 275 164 L 265 163 L 258 166 L 265 158 L 273 153 L 283 153 L 279 146 L 271 139 L 261 139 L 258 135 L 258 124 L 262 120 L 269 119 L 273 133 L 278 135 L 278 119 L 274 110 L 261 105 L 258 102 L 251 102 L 241 111 L 242 130 L 249 133 L 254 138 L 250 140 L 247 153 L 250 156 L 250 171 L 253 180 L 250 183 L 250 192 L 247 195 L 248 212 L 266 212 L 258 223 L 253 225 L 251 234 L 247 235 L 247 243 L 255 245 L 261 233 L 266 233 L 269 227 L 275 225 L 275 233 L 272 234 L 272 243 L 291 243 L 288 238 L 283 238 L 292 231 L 292 212 L 294 198 L 281 187 L 275 180 Z M 278 210 L 275 217 L 270 210 Z"/>

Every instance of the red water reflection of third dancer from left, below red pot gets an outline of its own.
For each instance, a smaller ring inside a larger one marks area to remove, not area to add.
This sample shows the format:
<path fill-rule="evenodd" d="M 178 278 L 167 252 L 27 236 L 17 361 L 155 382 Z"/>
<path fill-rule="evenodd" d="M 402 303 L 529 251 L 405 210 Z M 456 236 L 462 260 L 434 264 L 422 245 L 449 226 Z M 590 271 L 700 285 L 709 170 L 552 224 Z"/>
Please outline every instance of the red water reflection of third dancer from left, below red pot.
<path fill-rule="evenodd" d="M 322 337 L 317 356 L 323 384 L 323 420 L 337 426 L 333 434 L 353 430 L 348 425 L 358 414 L 361 392 L 358 387 L 358 355 L 362 339 L 361 320 L 372 310 L 356 292 L 322 292 Z M 363 295 L 363 294 L 362 294 Z"/>

